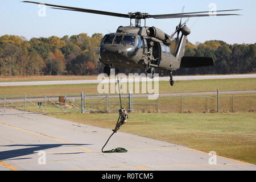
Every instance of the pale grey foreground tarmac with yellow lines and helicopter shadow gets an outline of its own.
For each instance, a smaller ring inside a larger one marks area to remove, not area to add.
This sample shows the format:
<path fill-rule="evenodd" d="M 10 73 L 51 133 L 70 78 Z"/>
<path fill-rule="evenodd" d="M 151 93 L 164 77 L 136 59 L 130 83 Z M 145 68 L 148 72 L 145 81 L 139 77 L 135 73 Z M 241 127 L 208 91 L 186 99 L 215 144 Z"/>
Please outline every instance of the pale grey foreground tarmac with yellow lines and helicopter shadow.
<path fill-rule="evenodd" d="M 208 153 L 121 132 L 114 135 L 106 150 L 123 147 L 129 151 L 102 154 L 110 134 L 108 129 L 46 115 L 0 117 L 0 171 L 256 170 L 254 164 L 222 156 L 210 164 L 209 159 L 215 156 Z M 46 164 L 42 164 L 43 156 Z"/>

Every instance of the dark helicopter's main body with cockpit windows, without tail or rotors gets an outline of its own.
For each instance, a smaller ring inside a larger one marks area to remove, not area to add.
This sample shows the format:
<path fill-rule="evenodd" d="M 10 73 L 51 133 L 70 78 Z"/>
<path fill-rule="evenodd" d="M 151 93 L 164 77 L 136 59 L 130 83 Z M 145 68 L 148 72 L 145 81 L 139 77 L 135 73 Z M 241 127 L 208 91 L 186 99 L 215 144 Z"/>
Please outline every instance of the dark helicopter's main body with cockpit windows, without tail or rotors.
<path fill-rule="evenodd" d="M 180 62 L 171 54 L 170 40 L 155 27 L 119 27 L 116 33 L 102 39 L 100 62 L 115 67 L 174 71 L 180 67 Z"/>

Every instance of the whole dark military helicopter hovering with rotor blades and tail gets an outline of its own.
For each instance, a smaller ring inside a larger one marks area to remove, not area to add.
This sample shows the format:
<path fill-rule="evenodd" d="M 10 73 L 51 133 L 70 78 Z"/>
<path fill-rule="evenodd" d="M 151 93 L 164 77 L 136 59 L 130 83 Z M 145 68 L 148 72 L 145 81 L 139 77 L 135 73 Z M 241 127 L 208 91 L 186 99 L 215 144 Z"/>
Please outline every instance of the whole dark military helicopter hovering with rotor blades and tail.
<path fill-rule="evenodd" d="M 176 27 L 173 34 L 168 35 L 156 27 L 147 27 L 146 19 L 169 19 L 169 18 L 190 18 L 203 16 L 228 16 L 238 14 L 217 14 L 217 12 L 237 11 L 237 10 L 221 10 L 221 11 L 201 11 L 191 13 L 176 13 L 150 15 L 147 13 L 112 13 L 107 11 L 81 9 L 77 7 L 51 5 L 47 3 L 23 1 L 27 3 L 35 3 L 46 6 L 51 6 L 53 9 L 79 11 L 84 13 L 93 13 L 109 16 L 117 16 L 121 18 L 129 18 L 130 26 L 120 26 L 117 32 L 104 36 L 99 51 L 100 63 L 105 65 L 104 73 L 110 75 L 112 67 L 118 70 L 118 67 L 145 69 L 151 78 L 155 76 L 155 69 L 160 70 L 160 76 L 163 76 L 163 71 L 170 72 L 170 84 L 174 85 L 172 71 L 179 68 L 195 68 L 209 67 L 214 65 L 212 57 L 185 57 L 185 46 L 187 36 L 191 34 L 191 30 L 186 26 L 186 23 L 180 23 Z M 132 19 L 135 19 L 135 26 L 132 24 Z M 141 26 L 141 20 L 144 20 L 144 26 Z M 181 37 L 179 34 L 181 32 Z M 176 52 L 172 55 L 170 45 L 174 36 L 176 39 Z"/>

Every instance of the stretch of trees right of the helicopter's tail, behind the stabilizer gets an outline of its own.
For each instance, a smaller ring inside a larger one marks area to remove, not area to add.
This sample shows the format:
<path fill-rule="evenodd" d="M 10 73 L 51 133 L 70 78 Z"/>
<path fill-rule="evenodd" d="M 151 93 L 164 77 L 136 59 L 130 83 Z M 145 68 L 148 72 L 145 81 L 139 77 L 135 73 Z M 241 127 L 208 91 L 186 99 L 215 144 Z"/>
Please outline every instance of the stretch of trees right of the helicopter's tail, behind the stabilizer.
<path fill-rule="evenodd" d="M 188 43 L 185 56 L 213 57 L 214 67 L 179 69 L 175 75 L 219 75 L 256 72 L 256 44 L 227 44 L 220 40 L 193 45 Z"/>

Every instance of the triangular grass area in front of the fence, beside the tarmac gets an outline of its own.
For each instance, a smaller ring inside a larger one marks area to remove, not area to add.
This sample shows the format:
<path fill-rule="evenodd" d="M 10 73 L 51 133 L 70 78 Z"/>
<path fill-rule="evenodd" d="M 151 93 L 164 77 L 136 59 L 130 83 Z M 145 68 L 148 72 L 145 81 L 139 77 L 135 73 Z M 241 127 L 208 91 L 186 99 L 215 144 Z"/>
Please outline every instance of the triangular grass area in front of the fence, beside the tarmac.
<path fill-rule="evenodd" d="M 118 114 L 50 116 L 114 129 Z M 130 114 L 120 131 L 256 164 L 256 113 Z"/>

